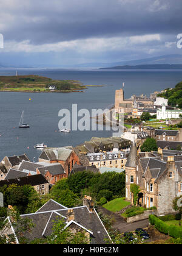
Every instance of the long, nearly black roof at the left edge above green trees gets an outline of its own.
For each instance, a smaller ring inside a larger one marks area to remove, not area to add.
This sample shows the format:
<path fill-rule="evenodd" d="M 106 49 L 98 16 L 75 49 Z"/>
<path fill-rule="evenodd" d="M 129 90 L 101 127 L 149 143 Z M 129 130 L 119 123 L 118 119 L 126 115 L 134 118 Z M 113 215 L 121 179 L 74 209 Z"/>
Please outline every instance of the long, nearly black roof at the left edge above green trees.
<path fill-rule="evenodd" d="M 19 177 L 18 179 L 10 179 L 10 180 L 1 180 L 0 181 L 0 187 L 3 187 L 4 185 L 12 185 L 17 184 L 19 186 L 23 185 L 41 185 L 48 183 L 42 174 L 27 176 L 27 177 Z"/>

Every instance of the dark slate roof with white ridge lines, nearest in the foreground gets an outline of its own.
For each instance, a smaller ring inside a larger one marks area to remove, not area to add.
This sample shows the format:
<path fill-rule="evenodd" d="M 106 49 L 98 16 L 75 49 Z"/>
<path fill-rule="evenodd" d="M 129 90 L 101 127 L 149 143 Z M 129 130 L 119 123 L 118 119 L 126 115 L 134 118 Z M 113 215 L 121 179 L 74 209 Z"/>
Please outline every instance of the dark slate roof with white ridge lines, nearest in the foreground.
<path fill-rule="evenodd" d="M 68 209 L 73 209 L 73 213 L 75 215 L 74 221 L 67 222 Z M 36 213 L 32 213 L 30 215 L 21 215 L 21 218 L 32 219 L 33 223 L 35 224 L 32 232 L 25 234 L 25 236 L 30 240 L 51 235 L 53 221 L 56 219 L 63 219 L 67 226 L 75 223 L 76 225 L 86 229 L 92 234 L 92 244 L 104 244 L 106 243 L 104 239 L 110 238 L 95 209 L 91 213 L 86 206 L 66 208 L 50 199 L 50 201 L 43 205 Z"/>

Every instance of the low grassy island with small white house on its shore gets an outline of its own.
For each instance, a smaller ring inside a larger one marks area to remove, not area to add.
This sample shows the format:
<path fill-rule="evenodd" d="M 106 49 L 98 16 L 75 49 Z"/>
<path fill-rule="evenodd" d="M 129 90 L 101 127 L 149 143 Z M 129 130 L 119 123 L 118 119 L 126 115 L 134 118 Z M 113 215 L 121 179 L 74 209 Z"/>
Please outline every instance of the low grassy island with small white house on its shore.
<path fill-rule="evenodd" d="M 49 85 L 56 85 L 59 91 L 75 91 L 86 88 L 74 80 L 52 80 L 49 77 L 35 75 L 0 76 L 0 91 L 45 91 Z"/>

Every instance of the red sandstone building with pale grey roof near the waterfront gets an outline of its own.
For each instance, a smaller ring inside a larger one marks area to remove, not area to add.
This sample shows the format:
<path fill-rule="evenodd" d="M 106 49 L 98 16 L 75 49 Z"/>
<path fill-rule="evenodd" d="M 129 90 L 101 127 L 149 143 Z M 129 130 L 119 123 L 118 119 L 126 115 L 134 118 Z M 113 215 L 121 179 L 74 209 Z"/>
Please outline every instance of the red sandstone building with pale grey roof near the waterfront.
<path fill-rule="evenodd" d="M 80 164 L 79 157 L 73 150 L 72 146 L 44 149 L 39 156 L 39 164 L 41 165 L 42 162 L 61 163 L 62 168 L 66 172 L 65 177 L 69 176 L 70 172 L 72 171 L 72 167 L 75 164 Z"/>

